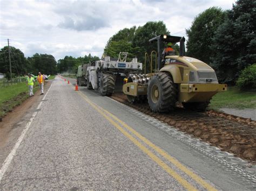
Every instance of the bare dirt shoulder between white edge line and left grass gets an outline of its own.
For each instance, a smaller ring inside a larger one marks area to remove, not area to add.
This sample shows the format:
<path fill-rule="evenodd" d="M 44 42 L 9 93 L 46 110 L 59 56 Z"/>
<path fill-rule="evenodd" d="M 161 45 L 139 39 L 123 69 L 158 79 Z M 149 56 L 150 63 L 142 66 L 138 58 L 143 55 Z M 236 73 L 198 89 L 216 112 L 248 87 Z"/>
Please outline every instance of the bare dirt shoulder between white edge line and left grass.
<path fill-rule="evenodd" d="M 49 80 L 44 85 L 46 92 L 52 80 Z M 29 97 L 16 108 L 12 109 L 0 122 L 0 162 L 3 163 L 12 147 L 21 135 L 23 129 L 31 118 L 33 112 L 36 111 L 38 104 L 41 102 L 43 95 L 40 91 L 36 91 L 35 96 Z"/>

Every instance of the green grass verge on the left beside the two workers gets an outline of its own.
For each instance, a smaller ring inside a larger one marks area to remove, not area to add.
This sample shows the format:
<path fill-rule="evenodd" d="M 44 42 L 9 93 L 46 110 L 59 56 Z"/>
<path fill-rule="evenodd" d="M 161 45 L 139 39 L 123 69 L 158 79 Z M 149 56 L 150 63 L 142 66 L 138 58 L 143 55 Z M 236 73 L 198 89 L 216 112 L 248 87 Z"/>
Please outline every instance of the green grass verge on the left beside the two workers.
<path fill-rule="evenodd" d="M 39 87 L 37 83 L 34 83 L 33 92 L 35 93 Z M 5 116 L 17 105 L 21 104 L 28 95 L 29 89 L 25 82 L 15 84 L 13 86 L 8 86 L 1 88 L 0 91 L 0 118 Z"/>

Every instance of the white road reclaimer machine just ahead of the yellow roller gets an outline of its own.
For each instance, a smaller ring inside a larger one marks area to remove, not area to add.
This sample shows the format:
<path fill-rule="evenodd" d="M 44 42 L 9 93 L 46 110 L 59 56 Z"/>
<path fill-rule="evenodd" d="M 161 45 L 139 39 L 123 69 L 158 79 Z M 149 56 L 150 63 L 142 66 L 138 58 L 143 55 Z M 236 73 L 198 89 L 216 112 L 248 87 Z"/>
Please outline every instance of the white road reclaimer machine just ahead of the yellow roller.
<path fill-rule="evenodd" d="M 86 72 L 87 89 L 97 90 L 106 96 L 111 96 L 114 91 L 122 92 L 125 77 L 130 73 L 142 73 L 142 63 L 137 58 L 127 62 L 127 55 L 127 52 L 120 52 L 118 59 L 105 56 L 102 60 L 91 62 Z"/>

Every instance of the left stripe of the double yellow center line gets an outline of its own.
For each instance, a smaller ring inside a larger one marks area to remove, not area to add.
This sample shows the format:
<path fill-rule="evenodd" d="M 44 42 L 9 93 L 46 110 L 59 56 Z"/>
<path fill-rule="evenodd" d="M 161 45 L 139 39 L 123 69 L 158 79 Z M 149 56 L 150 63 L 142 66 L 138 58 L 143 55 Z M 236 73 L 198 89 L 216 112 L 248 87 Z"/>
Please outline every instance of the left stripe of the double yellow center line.
<path fill-rule="evenodd" d="M 123 133 L 127 138 L 129 138 L 135 145 L 137 145 L 143 152 L 145 152 L 149 157 L 155 161 L 159 166 L 161 166 L 167 173 L 169 173 L 174 179 L 176 179 L 184 188 L 187 190 L 197 190 L 194 186 L 192 186 L 190 183 L 188 183 L 185 179 L 183 179 L 177 172 L 173 171 L 168 165 L 165 164 L 163 160 L 158 158 L 155 154 L 153 154 L 149 149 L 147 149 L 145 146 L 143 146 L 141 143 L 138 142 L 134 137 L 132 137 L 127 131 L 125 131 L 120 125 L 118 125 L 116 122 L 114 122 L 109 116 L 104 114 L 102 110 L 103 108 L 100 108 L 98 105 L 96 106 L 95 103 L 92 103 L 88 98 L 83 95 L 82 93 L 78 92 L 79 95 L 81 95 L 84 100 L 89 103 L 93 108 L 95 108 L 101 115 L 103 115 L 107 121 L 109 121 L 112 125 L 114 125 L 120 132 Z M 99 109 L 100 108 L 100 109 Z"/>

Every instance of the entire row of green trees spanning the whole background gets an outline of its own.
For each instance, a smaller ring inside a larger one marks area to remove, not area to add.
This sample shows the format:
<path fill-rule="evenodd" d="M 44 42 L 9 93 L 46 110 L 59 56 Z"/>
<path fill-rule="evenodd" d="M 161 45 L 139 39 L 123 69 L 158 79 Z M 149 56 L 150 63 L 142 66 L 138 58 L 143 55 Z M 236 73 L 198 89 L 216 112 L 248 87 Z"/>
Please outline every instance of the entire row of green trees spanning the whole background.
<path fill-rule="evenodd" d="M 235 84 L 242 70 L 256 63 L 255 10 L 255 0 L 238 0 L 231 10 L 212 7 L 200 13 L 186 29 L 186 55 L 215 69 L 219 82 Z M 170 34 L 162 21 L 122 29 L 107 41 L 103 56 L 118 58 L 119 52 L 129 52 L 128 61 L 136 56 L 144 62 L 145 52 L 157 50 L 156 42 L 149 43 L 149 39 L 160 34 Z M 21 74 L 75 71 L 82 63 L 99 60 L 91 54 L 78 58 L 67 55 L 56 62 L 52 55 L 38 53 L 26 59 L 19 49 L 11 49 L 12 71 Z M 174 49 L 178 52 L 179 46 L 174 45 Z M 0 72 L 8 74 L 8 47 L 1 49 L 0 62 Z"/>

